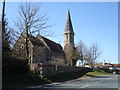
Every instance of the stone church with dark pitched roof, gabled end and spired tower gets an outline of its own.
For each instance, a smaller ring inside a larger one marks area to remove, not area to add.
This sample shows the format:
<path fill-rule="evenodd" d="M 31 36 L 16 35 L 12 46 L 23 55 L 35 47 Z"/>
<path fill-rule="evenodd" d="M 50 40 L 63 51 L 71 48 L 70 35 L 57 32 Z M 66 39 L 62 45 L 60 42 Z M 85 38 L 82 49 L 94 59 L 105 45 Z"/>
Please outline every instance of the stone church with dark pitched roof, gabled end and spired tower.
<path fill-rule="evenodd" d="M 14 55 L 26 57 L 26 33 L 22 32 L 13 47 Z M 55 65 L 67 65 L 66 51 L 74 47 L 74 32 L 68 11 L 64 30 L 64 48 L 54 41 L 42 35 L 36 37 L 29 35 L 29 63 L 50 63 Z"/>

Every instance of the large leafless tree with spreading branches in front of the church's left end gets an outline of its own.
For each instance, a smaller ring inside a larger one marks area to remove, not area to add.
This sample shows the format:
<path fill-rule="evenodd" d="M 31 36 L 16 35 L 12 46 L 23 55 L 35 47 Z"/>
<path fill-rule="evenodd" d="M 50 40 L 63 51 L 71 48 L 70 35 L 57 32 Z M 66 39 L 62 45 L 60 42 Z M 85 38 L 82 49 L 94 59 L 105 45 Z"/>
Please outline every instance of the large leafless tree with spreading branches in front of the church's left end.
<path fill-rule="evenodd" d="M 14 28 L 14 37 L 19 36 L 21 32 L 26 33 L 26 55 L 27 55 L 27 62 L 29 62 L 29 36 L 35 33 L 40 33 L 41 30 L 50 27 L 47 25 L 48 18 L 46 14 L 40 14 L 40 5 L 32 4 L 31 2 L 20 3 L 19 6 L 19 17 L 15 20 L 15 28 Z"/>

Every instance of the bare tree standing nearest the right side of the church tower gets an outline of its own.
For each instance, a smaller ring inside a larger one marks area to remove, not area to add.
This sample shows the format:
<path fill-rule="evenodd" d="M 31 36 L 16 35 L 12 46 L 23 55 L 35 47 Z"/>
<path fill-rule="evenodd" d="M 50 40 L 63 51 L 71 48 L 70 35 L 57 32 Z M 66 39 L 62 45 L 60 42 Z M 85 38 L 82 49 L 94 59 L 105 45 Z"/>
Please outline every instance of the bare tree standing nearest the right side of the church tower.
<path fill-rule="evenodd" d="M 78 59 L 81 60 L 83 66 L 83 62 L 84 60 L 86 60 L 87 47 L 84 44 L 84 42 L 81 40 L 77 45 L 77 53 L 78 53 Z"/>

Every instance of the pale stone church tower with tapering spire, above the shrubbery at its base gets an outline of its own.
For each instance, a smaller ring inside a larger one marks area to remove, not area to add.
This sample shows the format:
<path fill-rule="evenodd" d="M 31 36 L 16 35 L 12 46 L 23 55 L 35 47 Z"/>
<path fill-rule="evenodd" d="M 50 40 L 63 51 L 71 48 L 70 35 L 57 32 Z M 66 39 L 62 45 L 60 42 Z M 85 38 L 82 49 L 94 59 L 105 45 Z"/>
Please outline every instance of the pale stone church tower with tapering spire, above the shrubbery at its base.
<path fill-rule="evenodd" d="M 70 11 L 68 10 L 66 26 L 64 30 L 64 51 L 74 47 L 74 31 L 72 27 Z"/>

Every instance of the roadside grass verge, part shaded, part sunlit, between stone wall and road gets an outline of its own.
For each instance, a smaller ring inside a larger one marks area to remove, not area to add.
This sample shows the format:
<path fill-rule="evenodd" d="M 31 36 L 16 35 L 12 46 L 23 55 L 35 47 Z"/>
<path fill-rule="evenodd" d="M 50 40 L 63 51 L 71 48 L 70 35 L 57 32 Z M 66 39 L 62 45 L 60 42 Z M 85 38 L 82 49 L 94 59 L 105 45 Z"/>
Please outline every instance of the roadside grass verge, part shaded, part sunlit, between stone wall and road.
<path fill-rule="evenodd" d="M 100 78 L 106 75 L 112 75 L 112 73 L 107 73 L 103 70 L 91 71 L 91 72 L 83 70 L 82 72 L 57 74 L 55 76 L 48 77 L 47 79 L 53 82 L 62 82 L 62 81 L 68 81 L 68 80 L 73 80 L 73 79 L 86 79 L 86 78 L 91 78 L 91 77 Z"/>

